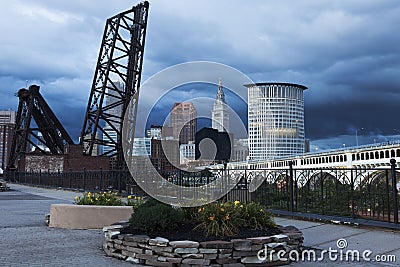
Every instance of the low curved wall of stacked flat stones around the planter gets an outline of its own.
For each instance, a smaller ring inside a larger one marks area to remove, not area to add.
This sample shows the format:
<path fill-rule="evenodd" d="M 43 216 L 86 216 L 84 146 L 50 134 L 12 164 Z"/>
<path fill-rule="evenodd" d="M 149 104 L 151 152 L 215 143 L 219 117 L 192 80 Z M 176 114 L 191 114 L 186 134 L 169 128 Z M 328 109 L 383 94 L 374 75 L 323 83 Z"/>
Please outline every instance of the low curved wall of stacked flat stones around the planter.
<path fill-rule="evenodd" d="M 105 253 L 149 266 L 277 266 L 288 264 L 288 260 L 281 259 L 288 258 L 292 250 L 301 251 L 303 246 L 302 233 L 292 226 L 281 228 L 283 234 L 229 242 L 169 241 L 162 237 L 120 234 L 123 227 L 104 227 Z"/>

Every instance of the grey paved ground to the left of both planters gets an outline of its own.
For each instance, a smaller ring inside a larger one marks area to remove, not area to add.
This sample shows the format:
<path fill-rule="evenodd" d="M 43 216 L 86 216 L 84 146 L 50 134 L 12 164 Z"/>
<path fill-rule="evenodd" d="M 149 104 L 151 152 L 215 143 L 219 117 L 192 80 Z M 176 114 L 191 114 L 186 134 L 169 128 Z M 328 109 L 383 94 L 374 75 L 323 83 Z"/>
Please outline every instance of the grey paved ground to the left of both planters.
<path fill-rule="evenodd" d="M 11 185 L 15 187 L 27 191 Z M 50 191 L 50 195 L 59 195 L 61 199 L 36 193 L 0 192 L 0 266 L 139 266 L 106 257 L 101 249 L 101 230 L 67 230 L 45 225 L 50 205 L 71 203 L 76 193 Z"/>

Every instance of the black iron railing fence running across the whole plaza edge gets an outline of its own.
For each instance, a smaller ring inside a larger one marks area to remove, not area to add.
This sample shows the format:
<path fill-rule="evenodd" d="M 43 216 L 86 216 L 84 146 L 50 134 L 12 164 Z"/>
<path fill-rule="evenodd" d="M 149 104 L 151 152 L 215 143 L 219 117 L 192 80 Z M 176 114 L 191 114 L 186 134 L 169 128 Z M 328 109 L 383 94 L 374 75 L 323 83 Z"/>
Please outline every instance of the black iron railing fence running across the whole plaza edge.
<path fill-rule="evenodd" d="M 216 178 L 239 181 L 223 199 L 256 201 L 275 210 L 399 223 L 400 173 L 394 160 L 391 160 L 391 167 L 380 168 L 300 169 L 289 165 L 286 169 L 175 171 L 163 176 L 174 184 L 199 188 Z M 127 171 L 9 172 L 5 179 L 43 187 L 93 191 L 112 189 L 145 195 Z M 163 185 L 157 188 L 162 195 Z"/>

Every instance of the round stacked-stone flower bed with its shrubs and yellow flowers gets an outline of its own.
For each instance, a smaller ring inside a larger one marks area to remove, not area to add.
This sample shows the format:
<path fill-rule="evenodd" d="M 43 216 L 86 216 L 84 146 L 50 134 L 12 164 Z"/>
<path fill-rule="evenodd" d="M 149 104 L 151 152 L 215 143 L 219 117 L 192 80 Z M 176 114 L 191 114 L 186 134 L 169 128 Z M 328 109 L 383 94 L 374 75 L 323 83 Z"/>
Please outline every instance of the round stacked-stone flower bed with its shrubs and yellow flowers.
<path fill-rule="evenodd" d="M 149 200 L 103 231 L 108 256 L 149 266 L 280 265 L 303 245 L 298 229 L 279 228 L 263 206 L 239 201 L 178 208 Z"/>

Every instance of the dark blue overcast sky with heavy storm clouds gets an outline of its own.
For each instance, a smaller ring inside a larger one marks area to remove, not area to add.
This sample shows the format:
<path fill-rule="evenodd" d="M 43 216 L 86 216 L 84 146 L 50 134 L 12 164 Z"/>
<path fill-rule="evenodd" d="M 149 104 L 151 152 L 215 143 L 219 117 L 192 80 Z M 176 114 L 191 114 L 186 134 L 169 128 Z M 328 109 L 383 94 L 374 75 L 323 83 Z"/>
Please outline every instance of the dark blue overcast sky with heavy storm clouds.
<path fill-rule="evenodd" d="M 80 133 L 105 21 L 136 2 L 0 1 L 0 109 L 14 93 L 41 92 L 70 135 Z M 150 1 L 142 81 L 206 60 L 255 82 L 307 86 L 306 137 L 314 147 L 400 133 L 400 2 Z M 361 129 L 363 128 L 363 129 Z"/>

